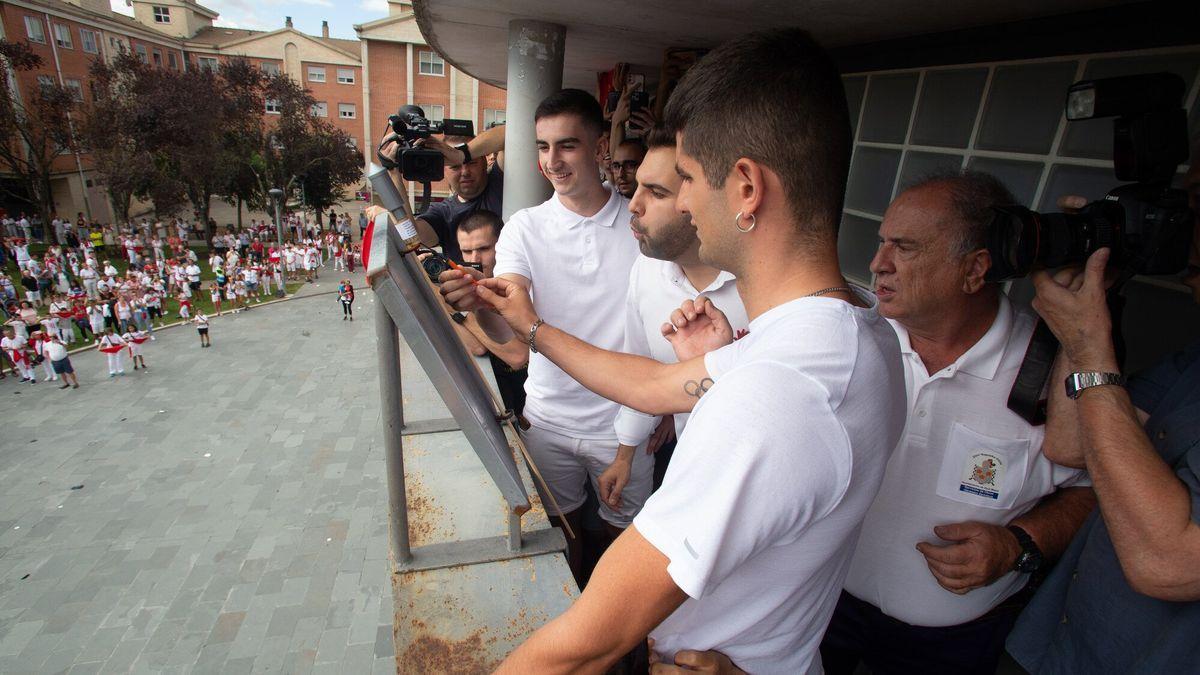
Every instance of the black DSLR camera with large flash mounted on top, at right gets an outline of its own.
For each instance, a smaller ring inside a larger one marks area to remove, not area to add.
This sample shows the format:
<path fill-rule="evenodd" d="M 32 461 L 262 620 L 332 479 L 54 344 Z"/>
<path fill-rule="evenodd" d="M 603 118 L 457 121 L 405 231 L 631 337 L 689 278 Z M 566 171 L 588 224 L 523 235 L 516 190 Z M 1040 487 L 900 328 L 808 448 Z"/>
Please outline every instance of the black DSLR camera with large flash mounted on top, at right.
<path fill-rule="evenodd" d="M 1170 187 L 1188 157 L 1183 79 L 1152 73 L 1078 82 L 1067 91 L 1067 119 L 1116 117 L 1112 161 L 1121 185 L 1073 214 L 1039 214 L 995 207 L 989 228 L 989 281 L 1038 268 L 1082 263 L 1109 247 L 1109 264 L 1123 279 L 1175 274 L 1187 267 L 1192 243 L 1188 196 Z"/>

